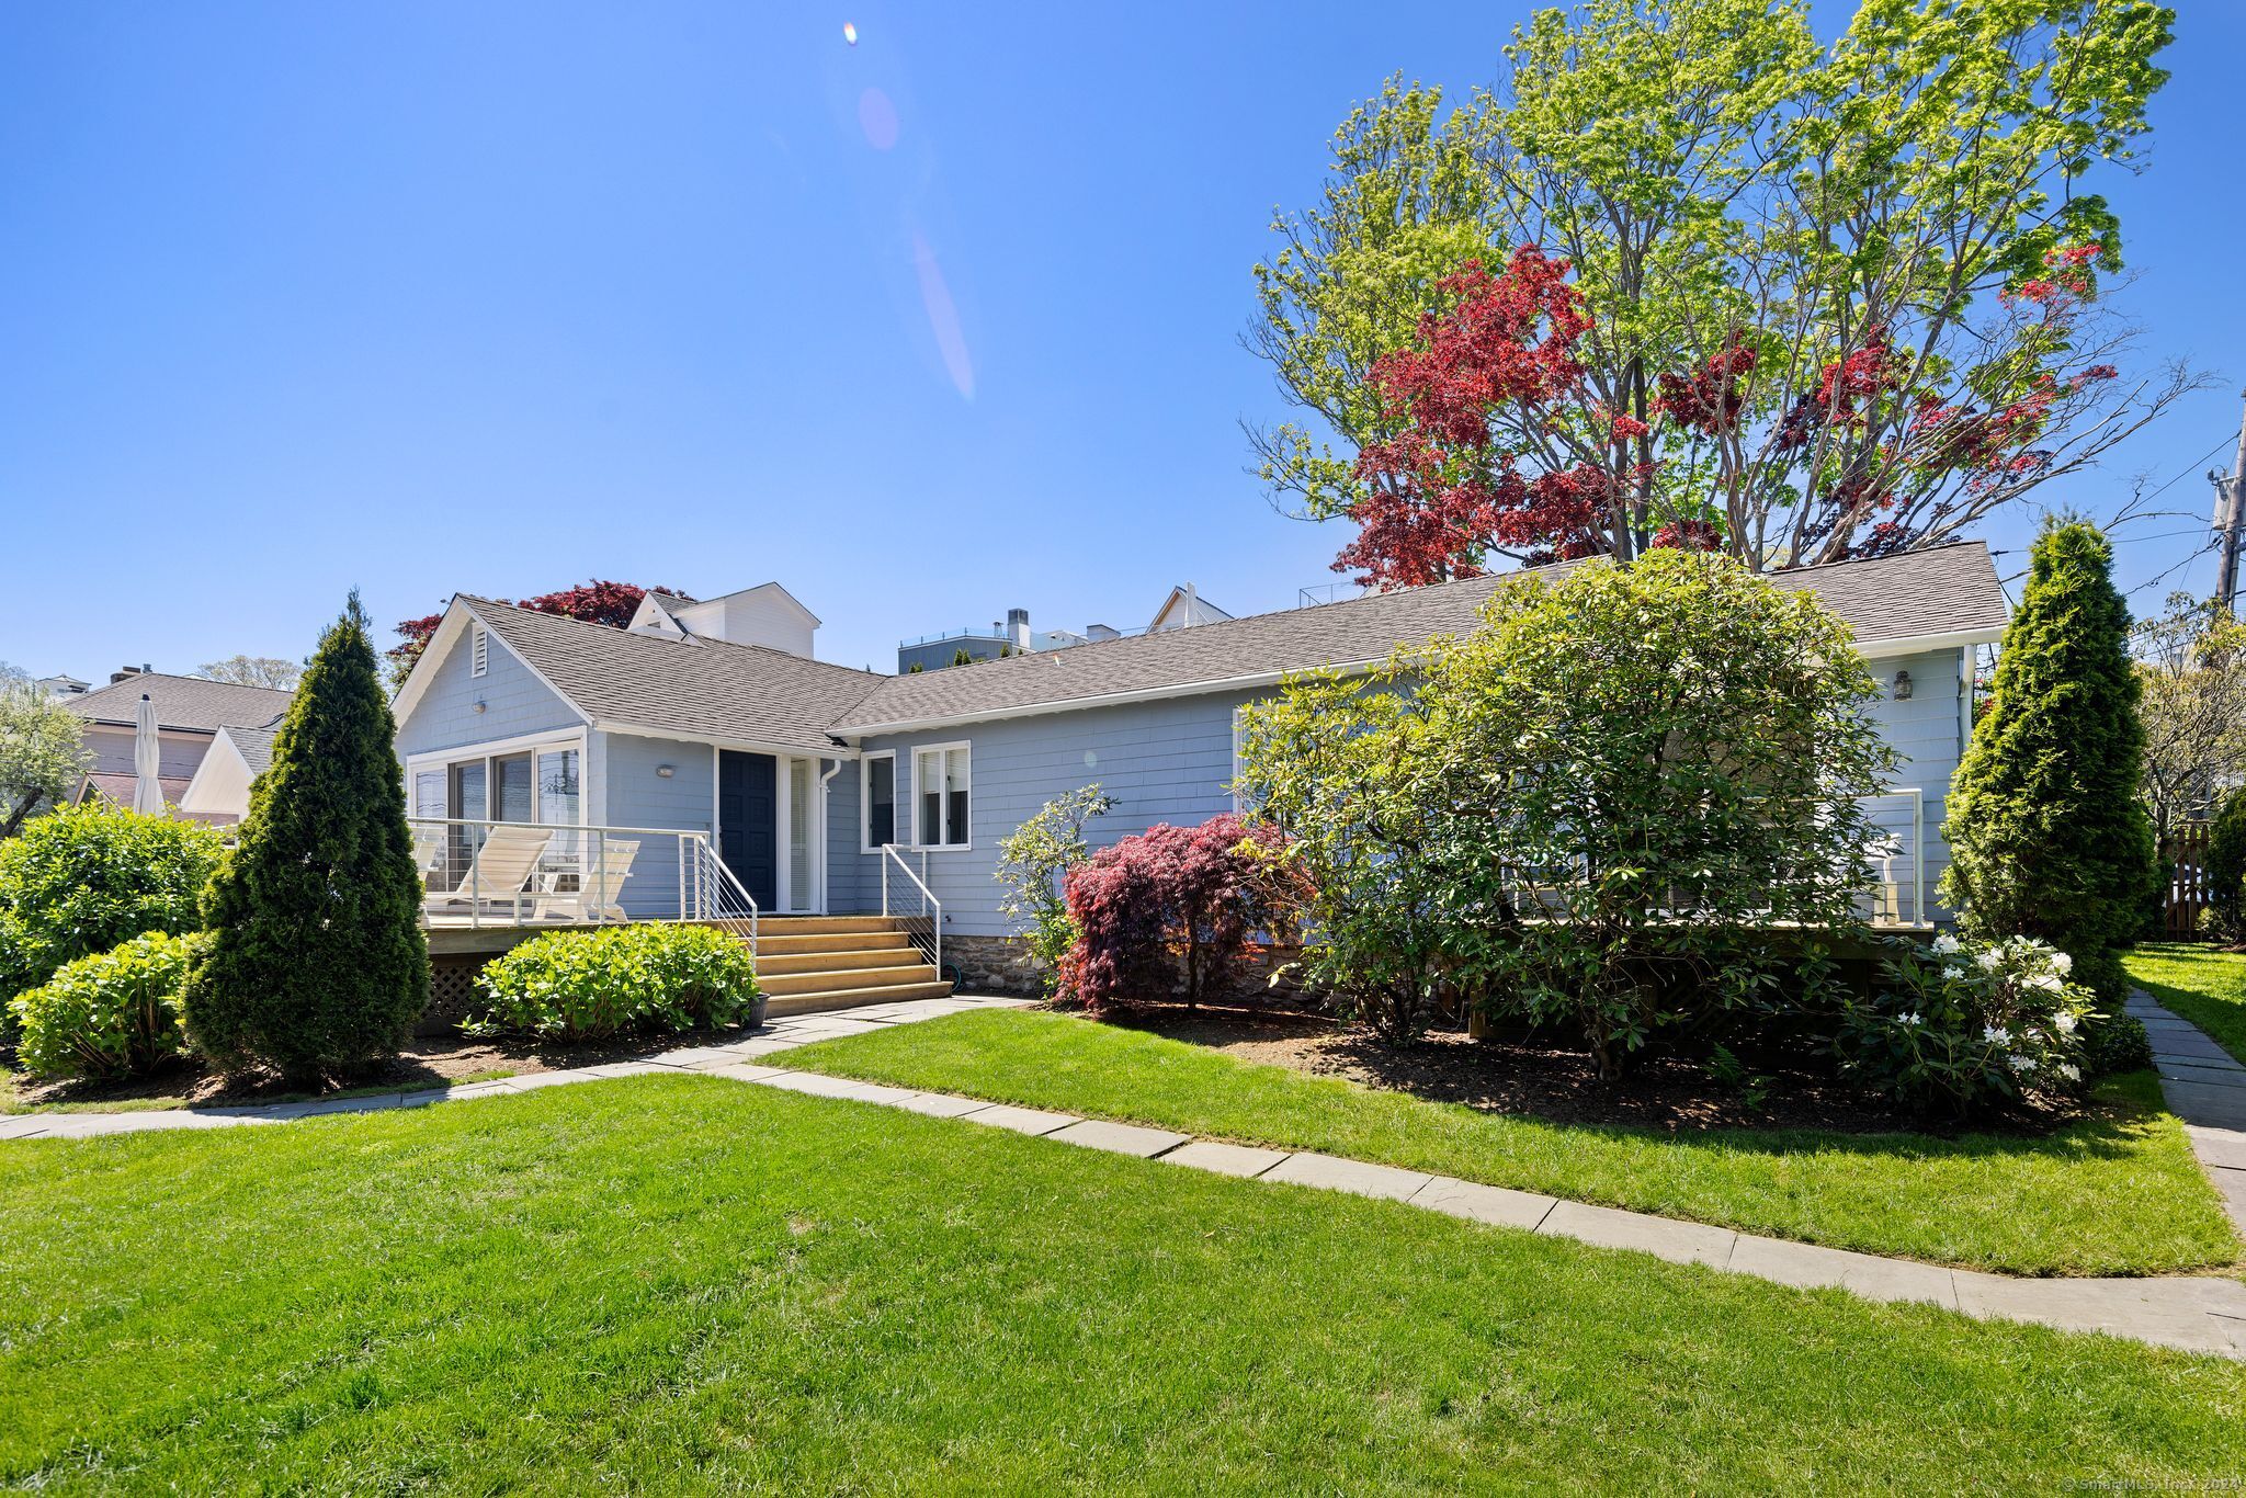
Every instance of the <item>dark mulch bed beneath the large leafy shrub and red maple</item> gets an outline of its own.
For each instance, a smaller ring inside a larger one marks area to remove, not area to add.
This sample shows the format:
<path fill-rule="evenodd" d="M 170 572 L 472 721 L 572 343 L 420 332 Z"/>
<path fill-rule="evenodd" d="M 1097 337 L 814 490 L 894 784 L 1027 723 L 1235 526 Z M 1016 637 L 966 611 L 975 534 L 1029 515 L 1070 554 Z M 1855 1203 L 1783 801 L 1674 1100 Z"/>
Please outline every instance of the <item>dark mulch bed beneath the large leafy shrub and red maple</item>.
<path fill-rule="evenodd" d="M 1491 1114 L 1550 1123 L 1631 1125 L 1669 1132 L 1698 1130 L 1839 1130 L 1855 1134 L 1941 1134 L 1941 1125 L 1898 1114 L 1842 1087 L 1830 1076 L 1756 1067 L 1770 1076 L 1761 1107 L 1680 1058 L 1642 1058 L 1619 1083 L 1601 1083 L 1583 1051 L 1536 1040 L 1467 1040 L 1464 1031 L 1431 1031 L 1408 1047 L 1381 1044 L 1370 1033 L 1321 1015 L 1269 1008 L 1132 1008 L 1114 1017 L 1170 1040 L 1211 1047 L 1244 1062 L 1287 1067 L 1309 1076 L 1339 1076 L 1361 1087 L 1408 1091 L 1431 1103 L 1464 1103 Z M 2039 1112 L 2008 1123 L 1976 1123 L 1974 1132 L 2039 1134 L 2064 1123 L 2062 1112 Z"/>

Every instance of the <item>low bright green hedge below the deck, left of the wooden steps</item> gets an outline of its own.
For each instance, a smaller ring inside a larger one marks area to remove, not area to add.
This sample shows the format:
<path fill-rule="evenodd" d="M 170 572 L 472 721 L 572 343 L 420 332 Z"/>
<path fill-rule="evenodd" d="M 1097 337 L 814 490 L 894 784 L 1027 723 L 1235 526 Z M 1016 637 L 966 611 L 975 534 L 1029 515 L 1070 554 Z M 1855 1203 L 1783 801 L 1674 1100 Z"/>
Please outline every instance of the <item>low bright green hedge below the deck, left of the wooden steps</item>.
<path fill-rule="evenodd" d="M 485 963 L 478 986 L 490 1008 L 460 1029 L 544 1040 L 741 1024 L 759 993 L 748 948 L 707 925 L 546 932 Z"/>

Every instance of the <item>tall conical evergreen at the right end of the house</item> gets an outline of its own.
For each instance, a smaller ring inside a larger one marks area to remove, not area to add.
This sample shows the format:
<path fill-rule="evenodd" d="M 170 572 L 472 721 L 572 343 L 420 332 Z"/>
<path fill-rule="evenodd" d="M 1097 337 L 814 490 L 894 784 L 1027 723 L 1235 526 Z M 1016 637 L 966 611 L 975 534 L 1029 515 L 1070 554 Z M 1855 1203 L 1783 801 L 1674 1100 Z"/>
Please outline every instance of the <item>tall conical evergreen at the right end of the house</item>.
<path fill-rule="evenodd" d="M 1994 696 L 1950 791 L 1943 889 L 1967 934 L 2048 941 L 2118 1011 L 2129 979 L 2116 950 L 2143 925 L 2154 847 L 2129 606 L 2111 573 L 2096 526 L 2055 523 L 2035 541 Z"/>

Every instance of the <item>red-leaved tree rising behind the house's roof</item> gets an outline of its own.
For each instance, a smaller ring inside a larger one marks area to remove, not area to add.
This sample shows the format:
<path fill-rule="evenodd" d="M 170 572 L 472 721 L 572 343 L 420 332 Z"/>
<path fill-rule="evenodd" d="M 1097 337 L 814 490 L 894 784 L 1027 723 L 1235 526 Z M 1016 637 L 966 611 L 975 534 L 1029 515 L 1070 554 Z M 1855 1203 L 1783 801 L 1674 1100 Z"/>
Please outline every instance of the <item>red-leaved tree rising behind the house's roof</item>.
<path fill-rule="evenodd" d="M 2096 395 L 2116 380 L 2084 326 L 2100 254 L 2051 249 L 1988 299 L 1970 366 L 1882 321 L 1824 348 L 1732 328 L 1619 384 L 1586 368 L 1597 323 L 1568 261 L 1469 261 L 1415 346 L 1368 373 L 1384 433 L 1359 449 L 1359 532 L 1334 570 L 1410 586 L 1651 546 L 1768 568 L 1954 539 L 2134 429 Z M 1592 389 L 1635 395 L 1613 409 Z"/>

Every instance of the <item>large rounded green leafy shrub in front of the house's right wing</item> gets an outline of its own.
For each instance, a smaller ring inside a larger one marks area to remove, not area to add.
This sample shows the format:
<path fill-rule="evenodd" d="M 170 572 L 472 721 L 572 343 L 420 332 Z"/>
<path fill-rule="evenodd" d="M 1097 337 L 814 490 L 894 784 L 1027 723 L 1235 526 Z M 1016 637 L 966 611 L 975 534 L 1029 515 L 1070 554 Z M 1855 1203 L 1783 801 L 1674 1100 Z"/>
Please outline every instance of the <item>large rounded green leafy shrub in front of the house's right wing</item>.
<path fill-rule="evenodd" d="M 1242 784 L 1314 889 L 1312 977 L 1408 1035 L 1446 997 L 1601 1076 L 1765 1002 L 1772 925 L 1853 932 L 1893 768 L 1848 627 L 1725 557 L 1498 588 L 1462 640 L 1244 710 Z"/>

